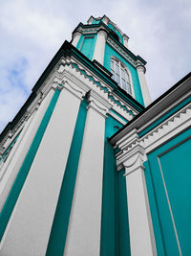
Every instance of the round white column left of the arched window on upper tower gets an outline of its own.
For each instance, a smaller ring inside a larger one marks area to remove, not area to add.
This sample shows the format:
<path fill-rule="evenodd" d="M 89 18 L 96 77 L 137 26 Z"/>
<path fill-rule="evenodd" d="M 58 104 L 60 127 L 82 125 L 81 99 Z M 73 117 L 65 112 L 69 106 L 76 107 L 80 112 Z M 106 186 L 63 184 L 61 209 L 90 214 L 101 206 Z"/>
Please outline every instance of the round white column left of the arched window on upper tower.
<path fill-rule="evenodd" d="M 103 65 L 104 61 L 106 39 L 107 33 L 103 30 L 98 31 L 93 59 L 96 59 L 101 65 Z"/>

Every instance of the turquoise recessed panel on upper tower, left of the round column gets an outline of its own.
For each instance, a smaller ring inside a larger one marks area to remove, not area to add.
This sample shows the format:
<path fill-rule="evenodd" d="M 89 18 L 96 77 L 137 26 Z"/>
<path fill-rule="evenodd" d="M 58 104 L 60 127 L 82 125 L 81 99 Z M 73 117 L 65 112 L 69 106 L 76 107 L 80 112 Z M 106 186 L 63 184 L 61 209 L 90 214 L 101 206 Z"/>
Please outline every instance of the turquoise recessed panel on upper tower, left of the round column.
<path fill-rule="evenodd" d="M 76 48 L 87 58 L 93 60 L 96 45 L 96 35 L 81 35 Z"/>

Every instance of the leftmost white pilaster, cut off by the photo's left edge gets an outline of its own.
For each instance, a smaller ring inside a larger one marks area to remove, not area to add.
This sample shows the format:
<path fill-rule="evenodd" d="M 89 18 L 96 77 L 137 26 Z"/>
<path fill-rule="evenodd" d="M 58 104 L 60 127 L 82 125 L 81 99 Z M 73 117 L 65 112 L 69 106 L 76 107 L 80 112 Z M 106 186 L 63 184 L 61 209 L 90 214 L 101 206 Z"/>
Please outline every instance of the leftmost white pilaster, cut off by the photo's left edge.
<path fill-rule="evenodd" d="M 21 131 L 11 153 L 2 167 L 0 173 L 0 211 L 2 210 L 6 199 L 11 191 L 11 186 L 15 180 L 18 171 L 29 151 L 33 137 L 40 125 L 40 122 L 47 110 L 53 97 L 54 90 L 51 89 L 49 94 L 43 100 L 41 105 L 37 105 L 32 117 L 27 121 L 25 127 Z"/>

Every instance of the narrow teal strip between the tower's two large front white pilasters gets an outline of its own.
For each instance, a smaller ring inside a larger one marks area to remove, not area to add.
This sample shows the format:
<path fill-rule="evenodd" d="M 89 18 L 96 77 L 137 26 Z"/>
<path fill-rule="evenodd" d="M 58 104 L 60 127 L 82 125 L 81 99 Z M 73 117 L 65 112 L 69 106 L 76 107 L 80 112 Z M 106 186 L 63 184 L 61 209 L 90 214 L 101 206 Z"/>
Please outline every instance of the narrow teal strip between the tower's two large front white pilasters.
<path fill-rule="evenodd" d="M 86 106 L 87 102 L 83 101 L 79 107 L 79 112 L 74 128 L 73 141 L 71 144 L 66 170 L 59 193 L 55 215 L 53 218 L 53 226 L 46 256 L 61 256 L 64 253 L 68 224 L 74 196 L 75 178 L 77 174 L 79 155 L 81 151 L 83 133 L 85 128 L 87 114 Z"/>

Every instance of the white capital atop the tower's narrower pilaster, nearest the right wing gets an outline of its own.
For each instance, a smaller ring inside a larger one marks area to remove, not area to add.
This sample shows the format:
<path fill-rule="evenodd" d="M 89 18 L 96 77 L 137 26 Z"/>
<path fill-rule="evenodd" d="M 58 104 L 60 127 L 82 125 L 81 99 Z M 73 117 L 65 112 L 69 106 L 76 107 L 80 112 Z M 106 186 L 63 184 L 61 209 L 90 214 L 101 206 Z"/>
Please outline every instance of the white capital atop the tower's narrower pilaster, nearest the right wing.
<path fill-rule="evenodd" d="M 103 97 L 97 95 L 94 91 L 88 93 L 88 103 L 89 105 L 87 106 L 87 109 L 92 107 L 104 118 L 107 118 L 107 113 L 112 107 L 112 105 L 110 105 Z"/>

